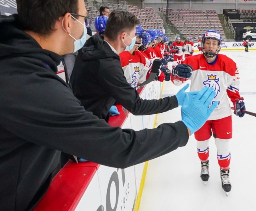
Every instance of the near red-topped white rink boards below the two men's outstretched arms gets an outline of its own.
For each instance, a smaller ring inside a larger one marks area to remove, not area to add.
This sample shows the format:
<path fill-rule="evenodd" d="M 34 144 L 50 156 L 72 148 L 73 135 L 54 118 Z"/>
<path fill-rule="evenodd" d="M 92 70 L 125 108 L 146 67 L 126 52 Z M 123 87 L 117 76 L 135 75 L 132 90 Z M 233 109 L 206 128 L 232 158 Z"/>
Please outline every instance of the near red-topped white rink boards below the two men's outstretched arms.
<path fill-rule="evenodd" d="M 64 76 L 62 70 L 59 74 Z M 140 97 L 159 99 L 161 85 L 158 81 L 151 82 L 138 90 Z M 120 115 L 110 117 L 110 125 L 134 130 L 154 127 L 156 115 L 135 116 L 122 106 L 117 107 Z M 118 169 L 69 161 L 54 177 L 34 211 L 138 211 L 147 166 L 148 162 Z"/>

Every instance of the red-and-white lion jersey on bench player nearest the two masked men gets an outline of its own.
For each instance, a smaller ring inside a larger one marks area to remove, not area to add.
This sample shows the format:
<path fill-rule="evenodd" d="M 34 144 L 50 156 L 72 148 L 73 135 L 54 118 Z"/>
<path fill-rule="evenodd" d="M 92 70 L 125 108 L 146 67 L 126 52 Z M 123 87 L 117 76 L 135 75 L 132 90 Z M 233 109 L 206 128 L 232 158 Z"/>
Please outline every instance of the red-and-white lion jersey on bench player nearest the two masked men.
<path fill-rule="evenodd" d="M 134 55 L 128 51 L 119 54 L 124 76 L 127 82 L 135 88 L 146 80 L 148 71 L 152 68 L 152 63 L 142 52 L 134 51 Z"/>

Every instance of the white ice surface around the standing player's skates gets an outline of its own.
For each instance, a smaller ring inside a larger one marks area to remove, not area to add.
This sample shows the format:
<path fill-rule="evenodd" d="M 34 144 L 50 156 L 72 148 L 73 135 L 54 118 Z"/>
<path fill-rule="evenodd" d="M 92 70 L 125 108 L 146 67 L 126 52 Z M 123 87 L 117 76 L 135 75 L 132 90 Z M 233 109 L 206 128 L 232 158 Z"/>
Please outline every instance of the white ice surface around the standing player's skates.
<path fill-rule="evenodd" d="M 240 71 L 240 94 L 246 110 L 256 113 L 256 51 L 221 51 Z M 176 94 L 182 86 L 164 82 L 162 96 Z M 157 124 L 180 120 L 180 107 L 158 114 Z M 192 135 L 185 147 L 149 161 L 140 211 L 247 211 L 256 210 L 256 117 L 232 115 L 230 181 L 225 195 L 213 137 L 210 139 L 207 185 L 200 179 L 200 160 Z"/>

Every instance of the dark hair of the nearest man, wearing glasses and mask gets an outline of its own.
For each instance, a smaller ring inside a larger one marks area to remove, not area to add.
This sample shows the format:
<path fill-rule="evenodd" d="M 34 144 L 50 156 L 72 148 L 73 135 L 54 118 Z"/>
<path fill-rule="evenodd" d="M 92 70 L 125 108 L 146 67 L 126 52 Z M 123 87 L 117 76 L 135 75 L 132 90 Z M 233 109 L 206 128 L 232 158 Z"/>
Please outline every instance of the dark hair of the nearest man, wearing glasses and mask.
<path fill-rule="evenodd" d="M 24 30 L 41 35 L 54 31 L 58 18 L 78 13 L 78 0 L 16 0 L 18 19 Z"/>

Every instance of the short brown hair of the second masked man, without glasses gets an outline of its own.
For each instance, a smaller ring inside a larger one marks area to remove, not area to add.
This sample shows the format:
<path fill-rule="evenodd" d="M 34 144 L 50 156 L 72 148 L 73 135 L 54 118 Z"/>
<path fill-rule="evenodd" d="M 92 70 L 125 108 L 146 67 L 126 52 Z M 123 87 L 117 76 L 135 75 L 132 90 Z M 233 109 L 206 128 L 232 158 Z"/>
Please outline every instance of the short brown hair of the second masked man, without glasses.
<path fill-rule="evenodd" d="M 130 31 L 138 24 L 140 24 L 140 21 L 134 14 L 127 11 L 114 10 L 108 17 L 104 36 L 114 41 L 120 32 Z"/>

